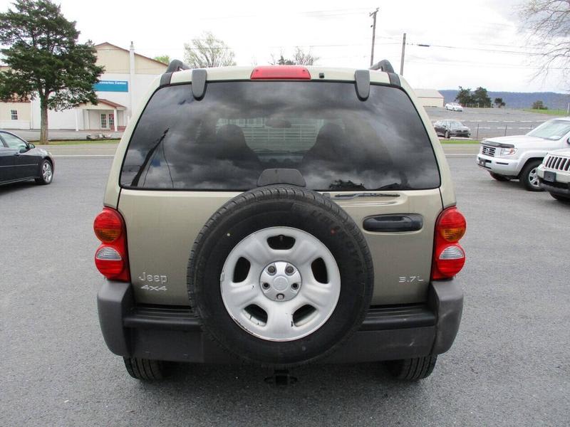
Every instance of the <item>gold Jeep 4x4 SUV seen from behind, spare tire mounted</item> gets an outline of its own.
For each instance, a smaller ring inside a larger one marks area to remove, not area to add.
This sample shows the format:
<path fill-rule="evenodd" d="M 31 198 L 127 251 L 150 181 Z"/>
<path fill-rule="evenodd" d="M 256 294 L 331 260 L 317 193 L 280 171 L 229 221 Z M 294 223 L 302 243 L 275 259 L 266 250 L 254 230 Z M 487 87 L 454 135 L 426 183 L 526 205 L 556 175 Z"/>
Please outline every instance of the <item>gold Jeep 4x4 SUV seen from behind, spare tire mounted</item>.
<path fill-rule="evenodd" d="M 455 339 L 465 218 L 435 131 L 388 61 L 187 70 L 125 130 L 95 218 L 103 337 L 165 362 L 388 361 Z"/>

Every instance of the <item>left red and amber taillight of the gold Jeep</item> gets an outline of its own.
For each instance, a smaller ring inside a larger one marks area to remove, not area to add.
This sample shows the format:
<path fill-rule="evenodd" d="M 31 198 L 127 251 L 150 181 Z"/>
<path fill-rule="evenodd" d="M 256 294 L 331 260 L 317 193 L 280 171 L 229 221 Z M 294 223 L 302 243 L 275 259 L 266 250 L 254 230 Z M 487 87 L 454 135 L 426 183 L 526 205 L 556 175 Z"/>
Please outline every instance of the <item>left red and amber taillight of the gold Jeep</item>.
<path fill-rule="evenodd" d="M 95 236 L 102 242 L 95 251 L 95 266 L 105 278 L 130 281 L 127 231 L 118 211 L 103 208 L 93 221 Z"/>

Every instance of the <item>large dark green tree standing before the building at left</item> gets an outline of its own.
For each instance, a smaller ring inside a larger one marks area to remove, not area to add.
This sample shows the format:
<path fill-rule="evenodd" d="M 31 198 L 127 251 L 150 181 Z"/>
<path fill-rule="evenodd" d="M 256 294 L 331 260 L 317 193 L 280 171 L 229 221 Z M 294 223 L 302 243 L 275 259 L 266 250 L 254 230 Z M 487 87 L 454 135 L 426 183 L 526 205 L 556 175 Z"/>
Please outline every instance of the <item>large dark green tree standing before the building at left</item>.
<path fill-rule="evenodd" d="M 0 13 L 0 49 L 9 69 L 0 73 L 0 98 L 38 97 L 40 142 L 48 142 L 48 109 L 97 103 L 93 85 L 103 73 L 93 43 L 78 43 L 76 23 L 50 0 L 16 0 Z"/>

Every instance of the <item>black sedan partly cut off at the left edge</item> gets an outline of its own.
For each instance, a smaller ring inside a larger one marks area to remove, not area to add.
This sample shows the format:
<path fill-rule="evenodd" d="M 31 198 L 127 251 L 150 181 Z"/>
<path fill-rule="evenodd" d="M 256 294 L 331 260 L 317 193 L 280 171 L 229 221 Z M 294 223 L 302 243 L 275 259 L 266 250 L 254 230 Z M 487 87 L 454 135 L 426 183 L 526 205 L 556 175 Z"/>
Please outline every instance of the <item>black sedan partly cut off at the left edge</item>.
<path fill-rule="evenodd" d="M 0 184 L 29 179 L 36 180 L 36 184 L 51 184 L 55 165 L 45 149 L 0 130 Z"/>

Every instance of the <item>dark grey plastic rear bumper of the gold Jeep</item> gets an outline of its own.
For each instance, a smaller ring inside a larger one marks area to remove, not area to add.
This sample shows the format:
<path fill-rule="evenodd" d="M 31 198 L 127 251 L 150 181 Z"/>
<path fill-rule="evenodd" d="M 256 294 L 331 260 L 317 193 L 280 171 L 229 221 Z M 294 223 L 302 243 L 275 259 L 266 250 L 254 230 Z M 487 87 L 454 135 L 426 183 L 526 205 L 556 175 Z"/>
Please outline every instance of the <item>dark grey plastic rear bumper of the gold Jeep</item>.
<path fill-rule="evenodd" d="M 323 362 L 375 362 L 441 354 L 459 330 L 463 292 L 457 280 L 430 284 L 427 304 L 371 307 L 347 344 Z M 200 329 L 188 307 L 136 306 L 129 283 L 105 281 L 97 296 L 110 351 L 125 357 L 234 363 Z"/>

